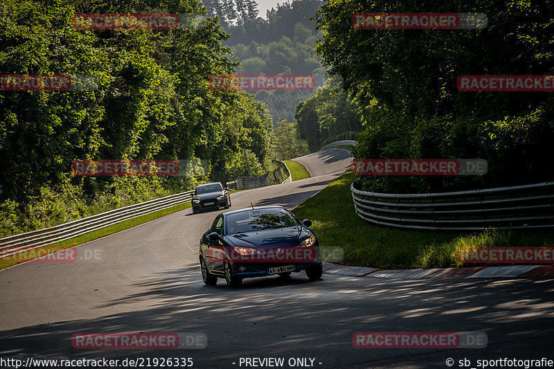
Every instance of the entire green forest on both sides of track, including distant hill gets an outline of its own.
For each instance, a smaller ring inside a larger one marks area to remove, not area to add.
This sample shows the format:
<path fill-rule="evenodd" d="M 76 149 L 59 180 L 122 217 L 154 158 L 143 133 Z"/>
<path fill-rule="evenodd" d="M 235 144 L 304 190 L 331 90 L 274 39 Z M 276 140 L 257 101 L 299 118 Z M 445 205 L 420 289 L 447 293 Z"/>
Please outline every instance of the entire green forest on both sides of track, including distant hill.
<path fill-rule="evenodd" d="M 88 75 L 94 88 L 0 92 L 0 229 L 21 233 L 260 175 L 343 139 L 355 158 L 480 158 L 485 176 L 361 178 L 378 192 L 551 180 L 551 92 L 461 91 L 460 75 L 554 75 L 550 0 L 0 0 L 3 75 Z M 482 12 L 464 30 L 370 30 L 359 12 Z M 179 29 L 79 29 L 75 14 L 175 13 Z M 215 91 L 211 75 L 314 74 L 314 91 Z M 172 159 L 173 177 L 80 177 L 90 159 Z"/>

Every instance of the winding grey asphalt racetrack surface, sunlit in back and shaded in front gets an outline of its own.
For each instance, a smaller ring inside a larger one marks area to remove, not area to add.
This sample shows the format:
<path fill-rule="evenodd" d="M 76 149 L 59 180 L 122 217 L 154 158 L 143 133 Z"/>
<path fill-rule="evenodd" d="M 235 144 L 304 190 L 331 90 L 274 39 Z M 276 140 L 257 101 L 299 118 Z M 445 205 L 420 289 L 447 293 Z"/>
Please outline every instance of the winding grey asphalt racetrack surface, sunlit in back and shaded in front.
<path fill-rule="evenodd" d="M 343 150 L 328 151 L 301 161 L 310 172 L 328 168 L 327 174 L 234 193 L 233 209 L 250 202 L 298 205 L 350 165 L 348 158 L 332 159 Z M 224 280 L 206 287 L 197 245 L 215 215 L 191 215 L 189 208 L 78 246 L 75 262 L 28 262 L 0 271 L 0 368 L 10 367 L 1 359 L 28 357 L 188 357 L 193 368 L 449 368 L 447 359 L 454 359 L 454 368 L 464 359 L 469 362 L 463 366 L 478 368 L 477 359 L 554 359 L 551 278 L 388 280 L 324 274 L 309 282 L 302 272 L 288 280 L 244 280 L 237 290 Z M 93 252 L 100 257 L 86 260 Z M 485 332 L 487 347 L 352 345 L 355 332 L 467 331 Z M 71 336 L 79 332 L 197 332 L 206 334 L 207 345 L 78 350 Z M 284 358 L 285 365 L 244 363 L 269 357 Z M 292 358 L 309 359 L 289 366 Z"/>

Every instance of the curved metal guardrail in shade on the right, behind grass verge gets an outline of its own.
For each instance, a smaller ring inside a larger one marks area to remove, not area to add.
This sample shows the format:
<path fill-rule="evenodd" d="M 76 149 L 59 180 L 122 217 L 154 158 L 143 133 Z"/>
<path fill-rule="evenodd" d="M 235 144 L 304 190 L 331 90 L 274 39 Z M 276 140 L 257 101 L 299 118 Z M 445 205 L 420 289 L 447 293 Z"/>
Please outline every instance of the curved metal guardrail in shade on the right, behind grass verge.
<path fill-rule="evenodd" d="M 483 231 L 554 227 L 554 182 L 426 194 L 365 192 L 350 185 L 357 215 L 395 228 Z"/>

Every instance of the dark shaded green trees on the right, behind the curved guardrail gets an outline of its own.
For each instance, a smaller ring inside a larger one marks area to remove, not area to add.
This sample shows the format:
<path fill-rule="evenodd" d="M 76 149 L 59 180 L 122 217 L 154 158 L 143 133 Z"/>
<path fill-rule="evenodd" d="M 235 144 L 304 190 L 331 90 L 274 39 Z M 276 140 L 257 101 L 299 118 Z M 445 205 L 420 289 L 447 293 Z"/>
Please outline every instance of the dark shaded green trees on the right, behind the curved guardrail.
<path fill-rule="evenodd" d="M 482 30 L 361 30 L 357 12 L 483 12 Z M 481 158 L 483 177 L 386 177 L 366 189 L 428 192 L 551 181 L 554 98 L 537 92 L 458 91 L 458 75 L 553 74 L 554 13 L 510 0 L 326 3 L 316 51 L 341 75 L 363 123 L 357 158 Z M 515 175 L 517 173 L 517 175 Z"/>

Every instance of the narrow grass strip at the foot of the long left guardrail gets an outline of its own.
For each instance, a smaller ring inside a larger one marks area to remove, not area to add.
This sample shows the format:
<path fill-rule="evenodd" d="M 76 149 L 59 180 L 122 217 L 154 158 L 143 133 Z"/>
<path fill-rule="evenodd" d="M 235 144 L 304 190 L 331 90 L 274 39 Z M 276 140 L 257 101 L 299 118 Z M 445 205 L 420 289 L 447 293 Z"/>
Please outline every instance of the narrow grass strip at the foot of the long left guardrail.
<path fill-rule="evenodd" d="M 49 253 L 55 253 L 57 251 L 67 249 L 72 246 L 76 246 L 79 244 L 84 244 L 85 242 L 89 242 L 92 240 L 96 240 L 97 238 L 104 237 L 107 235 L 111 235 L 113 233 L 117 233 L 120 231 L 125 231 L 125 229 L 132 228 L 134 226 L 138 226 L 139 224 L 143 224 L 146 222 L 150 222 L 150 220 L 157 219 L 159 217 L 163 217 L 164 215 L 169 215 L 171 213 L 175 213 L 179 210 L 183 210 L 186 208 L 190 208 L 190 201 L 184 203 L 172 206 L 171 208 L 167 208 L 164 210 L 159 210 L 155 213 L 145 214 L 141 215 L 140 217 L 136 217 L 133 219 L 125 220 L 124 222 L 120 222 L 118 224 L 114 224 L 113 226 L 107 226 L 105 228 L 100 228 L 97 231 L 92 231 L 90 233 L 87 233 L 85 235 L 81 235 L 78 237 L 73 237 L 69 240 L 56 242 L 55 244 L 50 244 L 48 246 L 39 247 L 38 249 L 34 249 L 32 251 L 29 251 L 27 254 L 21 253 L 23 256 L 16 257 L 17 260 L 12 261 L 8 257 L 7 259 L 0 258 L 0 270 L 5 269 L 7 267 L 11 267 L 12 265 L 19 264 L 21 262 L 26 262 L 27 260 L 33 259 L 32 257 L 29 257 L 30 255 L 48 255 Z M 25 255 L 28 255 L 27 257 Z M 10 260 L 10 261 L 8 261 Z"/>

